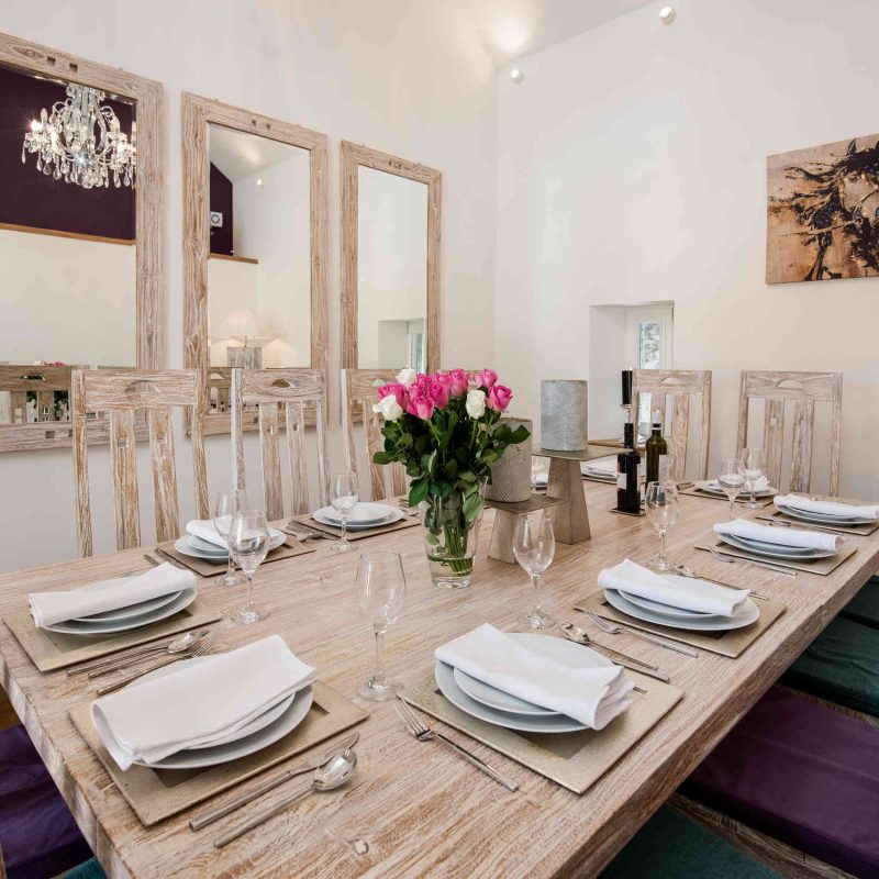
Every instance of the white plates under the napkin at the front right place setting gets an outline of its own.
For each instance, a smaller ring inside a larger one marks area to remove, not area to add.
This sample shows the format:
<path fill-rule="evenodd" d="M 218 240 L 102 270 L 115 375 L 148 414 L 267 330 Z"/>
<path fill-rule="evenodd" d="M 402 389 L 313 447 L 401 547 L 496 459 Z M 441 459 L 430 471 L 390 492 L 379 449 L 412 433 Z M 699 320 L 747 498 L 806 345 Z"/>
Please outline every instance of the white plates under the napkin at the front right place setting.
<path fill-rule="evenodd" d="M 515 638 L 541 656 L 571 668 L 613 665 L 610 659 L 594 650 L 563 638 L 531 633 L 513 633 L 509 637 Z M 527 733 L 576 733 L 589 728 L 565 714 L 525 702 L 503 690 L 471 678 L 446 663 L 437 663 L 434 674 L 439 692 L 453 705 L 474 717 L 493 723 L 496 726 Z"/>

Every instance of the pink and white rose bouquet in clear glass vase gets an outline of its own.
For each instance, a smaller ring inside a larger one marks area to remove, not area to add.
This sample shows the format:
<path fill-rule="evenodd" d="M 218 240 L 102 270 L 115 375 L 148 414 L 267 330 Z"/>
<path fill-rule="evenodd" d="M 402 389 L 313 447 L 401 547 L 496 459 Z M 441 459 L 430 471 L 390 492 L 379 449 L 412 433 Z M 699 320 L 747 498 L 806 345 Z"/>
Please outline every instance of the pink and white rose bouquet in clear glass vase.
<path fill-rule="evenodd" d="M 512 391 L 498 374 L 463 369 L 432 376 L 404 369 L 383 385 L 372 407 L 383 420 L 385 450 L 376 464 L 399 463 L 412 482 L 409 503 L 423 503 L 434 581 L 469 586 L 490 467 L 528 432 L 501 421 Z"/>

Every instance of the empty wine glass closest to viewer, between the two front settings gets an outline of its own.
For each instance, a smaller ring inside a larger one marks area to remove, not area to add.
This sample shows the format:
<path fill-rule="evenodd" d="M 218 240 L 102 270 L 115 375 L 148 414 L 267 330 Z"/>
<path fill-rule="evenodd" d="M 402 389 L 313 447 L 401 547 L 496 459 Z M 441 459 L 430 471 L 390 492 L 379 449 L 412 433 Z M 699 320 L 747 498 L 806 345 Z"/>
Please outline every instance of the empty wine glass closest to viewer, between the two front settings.
<path fill-rule="evenodd" d="M 366 553 L 357 563 L 357 604 L 376 636 L 376 669 L 358 688 L 364 699 L 393 699 L 400 685 L 385 671 L 385 633 L 397 622 L 405 601 L 403 560 L 397 553 Z"/>

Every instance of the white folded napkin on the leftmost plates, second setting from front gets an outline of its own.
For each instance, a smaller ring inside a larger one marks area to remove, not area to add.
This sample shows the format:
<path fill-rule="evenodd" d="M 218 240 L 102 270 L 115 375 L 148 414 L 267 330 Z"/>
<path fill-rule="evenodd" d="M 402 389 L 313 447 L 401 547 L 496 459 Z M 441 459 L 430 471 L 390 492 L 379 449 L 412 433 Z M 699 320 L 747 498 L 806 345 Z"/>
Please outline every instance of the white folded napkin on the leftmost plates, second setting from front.
<path fill-rule="evenodd" d="M 114 577 L 65 592 L 31 592 L 27 602 L 34 625 L 43 628 L 94 613 L 130 608 L 194 586 L 192 571 L 181 570 L 166 561 L 137 577 Z"/>

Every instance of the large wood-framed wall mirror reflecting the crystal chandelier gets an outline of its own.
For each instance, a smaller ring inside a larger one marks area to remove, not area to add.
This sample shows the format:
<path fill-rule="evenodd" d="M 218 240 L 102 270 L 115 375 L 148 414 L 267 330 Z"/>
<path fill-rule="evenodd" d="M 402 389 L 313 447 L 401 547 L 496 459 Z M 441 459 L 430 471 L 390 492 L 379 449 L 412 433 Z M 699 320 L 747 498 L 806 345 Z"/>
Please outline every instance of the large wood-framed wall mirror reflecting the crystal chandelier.
<path fill-rule="evenodd" d="M 0 450 L 71 444 L 73 369 L 162 365 L 160 111 L 158 82 L 0 34 Z"/>

